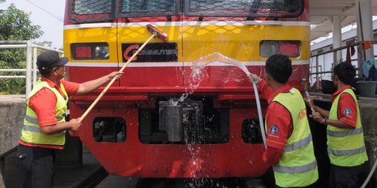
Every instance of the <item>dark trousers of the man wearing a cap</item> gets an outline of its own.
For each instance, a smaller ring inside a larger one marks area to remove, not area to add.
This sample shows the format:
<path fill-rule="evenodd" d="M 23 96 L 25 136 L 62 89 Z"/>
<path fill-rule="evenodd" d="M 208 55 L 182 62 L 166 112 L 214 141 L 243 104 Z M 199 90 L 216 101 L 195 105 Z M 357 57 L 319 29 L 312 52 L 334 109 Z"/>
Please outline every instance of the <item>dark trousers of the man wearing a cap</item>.
<path fill-rule="evenodd" d="M 17 157 L 24 171 L 24 188 L 52 187 L 55 160 L 53 149 L 19 145 Z"/>

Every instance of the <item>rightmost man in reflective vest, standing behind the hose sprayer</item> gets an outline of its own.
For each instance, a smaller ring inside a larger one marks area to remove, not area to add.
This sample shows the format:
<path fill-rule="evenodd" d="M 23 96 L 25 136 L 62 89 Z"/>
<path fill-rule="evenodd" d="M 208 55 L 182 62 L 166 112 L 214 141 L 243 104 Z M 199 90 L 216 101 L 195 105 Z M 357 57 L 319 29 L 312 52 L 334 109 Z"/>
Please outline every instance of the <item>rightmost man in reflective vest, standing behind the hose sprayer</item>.
<path fill-rule="evenodd" d="M 364 145 L 364 134 L 360 120 L 360 109 L 351 81 L 355 68 L 350 63 L 339 63 L 334 68 L 332 107 L 326 111 L 313 105 L 311 117 L 327 124 L 327 153 L 330 157 L 330 187 L 360 187 L 362 164 L 368 160 Z M 312 102 L 307 100 L 306 102 Z"/>

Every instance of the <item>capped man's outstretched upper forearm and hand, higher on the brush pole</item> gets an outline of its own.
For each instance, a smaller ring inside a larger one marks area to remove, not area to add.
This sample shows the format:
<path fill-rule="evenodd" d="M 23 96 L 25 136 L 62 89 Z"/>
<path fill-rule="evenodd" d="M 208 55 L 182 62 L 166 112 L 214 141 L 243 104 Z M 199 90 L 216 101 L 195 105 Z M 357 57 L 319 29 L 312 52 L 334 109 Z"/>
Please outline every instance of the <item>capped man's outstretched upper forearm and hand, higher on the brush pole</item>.
<path fill-rule="evenodd" d="M 123 72 L 111 72 L 109 75 L 106 75 L 104 77 L 79 84 L 78 91 L 75 94 L 84 95 L 90 93 L 91 91 L 94 91 L 97 88 L 101 87 L 103 84 L 111 81 L 114 77 L 117 77 L 117 79 L 119 79 L 121 75 L 123 75 Z"/>

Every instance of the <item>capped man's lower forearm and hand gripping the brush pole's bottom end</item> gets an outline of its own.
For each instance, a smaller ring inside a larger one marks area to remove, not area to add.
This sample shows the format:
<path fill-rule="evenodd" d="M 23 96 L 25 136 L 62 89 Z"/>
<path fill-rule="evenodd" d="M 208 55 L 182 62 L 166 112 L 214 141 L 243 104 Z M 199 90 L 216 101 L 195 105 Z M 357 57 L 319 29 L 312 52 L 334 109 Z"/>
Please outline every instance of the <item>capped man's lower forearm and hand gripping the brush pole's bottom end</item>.
<path fill-rule="evenodd" d="M 78 121 L 78 118 L 71 119 L 69 122 L 57 123 L 55 125 L 47 125 L 40 127 L 40 130 L 43 134 L 58 134 L 64 130 L 77 131 L 81 123 Z"/>

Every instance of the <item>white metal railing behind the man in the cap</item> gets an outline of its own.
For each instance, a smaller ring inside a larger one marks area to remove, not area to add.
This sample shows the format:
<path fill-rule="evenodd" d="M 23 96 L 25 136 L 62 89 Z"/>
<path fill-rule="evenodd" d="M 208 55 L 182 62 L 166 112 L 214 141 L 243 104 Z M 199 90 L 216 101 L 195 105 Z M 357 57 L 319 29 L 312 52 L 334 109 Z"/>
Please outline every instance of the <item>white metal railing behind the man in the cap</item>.
<path fill-rule="evenodd" d="M 0 49 L 20 49 L 26 48 L 26 68 L 25 69 L 0 69 L 0 72 L 25 72 L 22 76 L 3 76 L 0 79 L 26 79 L 26 97 L 31 92 L 31 86 L 35 86 L 37 80 L 37 49 L 54 50 L 60 54 L 63 51 L 57 49 L 50 49 L 40 45 L 35 45 L 31 40 L 0 40 Z"/>

